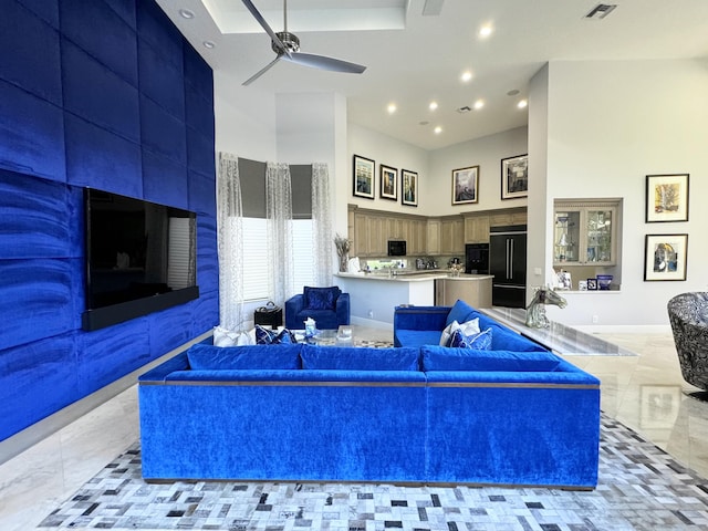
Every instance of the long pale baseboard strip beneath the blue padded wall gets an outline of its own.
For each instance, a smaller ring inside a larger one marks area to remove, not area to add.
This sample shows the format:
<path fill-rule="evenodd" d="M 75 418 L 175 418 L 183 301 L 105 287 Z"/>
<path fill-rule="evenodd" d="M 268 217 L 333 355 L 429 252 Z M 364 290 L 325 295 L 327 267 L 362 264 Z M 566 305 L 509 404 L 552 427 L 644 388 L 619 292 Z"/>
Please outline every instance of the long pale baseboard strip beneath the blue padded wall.
<path fill-rule="evenodd" d="M 59 431 L 60 429 L 69 426 L 74 420 L 83 417 L 91 410 L 95 409 L 100 405 L 108 402 L 111 398 L 123 393 L 125 389 L 132 387 L 137 383 L 138 376 L 143 373 L 156 367 L 160 363 L 169 360 L 170 357 L 186 351 L 195 343 L 199 343 L 212 335 L 214 331 L 209 330 L 204 334 L 195 337 L 194 340 L 178 346 L 177 348 L 168 352 L 159 358 L 143 365 L 140 368 L 126 374 L 119 379 L 102 387 L 101 389 L 92 393 L 80 400 L 70 404 L 69 406 L 60 409 L 59 412 L 38 420 L 32 426 L 24 428 L 22 431 L 8 437 L 3 441 L 0 441 L 0 465 L 12 459 L 13 457 L 22 454 L 28 448 L 37 445 L 41 440 L 45 439 L 50 435 Z"/>

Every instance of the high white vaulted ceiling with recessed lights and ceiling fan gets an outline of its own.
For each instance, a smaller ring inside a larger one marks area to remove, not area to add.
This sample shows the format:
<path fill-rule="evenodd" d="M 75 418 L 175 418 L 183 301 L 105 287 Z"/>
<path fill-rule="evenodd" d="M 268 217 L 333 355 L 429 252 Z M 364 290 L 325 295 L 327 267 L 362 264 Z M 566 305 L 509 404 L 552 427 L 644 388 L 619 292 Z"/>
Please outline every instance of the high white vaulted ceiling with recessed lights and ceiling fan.
<path fill-rule="evenodd" d="M 351 122 L 426 149 L 527 124 L 527 110 L 517 103 L 550 60 L 708 60 L 706 0 L 610 0 L 617 7 L 601 20 L 585 18 L 595 0 L 289 0 L 288 29 L 301 51 L 366 71 L 323 72 L 281 61 L 241 87 L 275 58 L 241 0 L 157 1 L 207 62 L 235 80 L 236 97 L 239 91 L 337 92 L 347 97 Z M 252 1 L 282 31 L 282 0 Z M 492 29 L 486 39 L 478 35 L 483 25 Z M 472 74 L 466 83 L 465 71 Z M 391 115 L 389 103 L 397 107 Z"/>

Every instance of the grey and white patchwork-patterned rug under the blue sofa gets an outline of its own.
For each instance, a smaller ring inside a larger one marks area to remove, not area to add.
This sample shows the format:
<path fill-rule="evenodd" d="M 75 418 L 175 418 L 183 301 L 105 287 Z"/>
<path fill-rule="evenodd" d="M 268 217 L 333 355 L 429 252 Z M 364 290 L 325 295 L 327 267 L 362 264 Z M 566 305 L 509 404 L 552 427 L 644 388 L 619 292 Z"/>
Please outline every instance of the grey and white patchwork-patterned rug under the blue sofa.
<path fill-rule="evenodd" d="M 116 530 L 708 529 L 708 481 L 603 416 L 591 492 L 367 483 L 145 483 L 139 445 L 118 456 L 41 528 Z"/>

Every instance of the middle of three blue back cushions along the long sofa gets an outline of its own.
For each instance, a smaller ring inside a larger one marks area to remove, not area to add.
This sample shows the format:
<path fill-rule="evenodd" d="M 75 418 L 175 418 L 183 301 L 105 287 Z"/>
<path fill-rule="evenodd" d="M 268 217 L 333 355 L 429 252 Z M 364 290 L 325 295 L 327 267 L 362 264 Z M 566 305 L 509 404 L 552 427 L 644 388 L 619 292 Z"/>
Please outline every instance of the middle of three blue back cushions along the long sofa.
<path fill-rule="evenodd" d="M 303 345 L 304 369 L 419 371 L 420 350 Z"/>

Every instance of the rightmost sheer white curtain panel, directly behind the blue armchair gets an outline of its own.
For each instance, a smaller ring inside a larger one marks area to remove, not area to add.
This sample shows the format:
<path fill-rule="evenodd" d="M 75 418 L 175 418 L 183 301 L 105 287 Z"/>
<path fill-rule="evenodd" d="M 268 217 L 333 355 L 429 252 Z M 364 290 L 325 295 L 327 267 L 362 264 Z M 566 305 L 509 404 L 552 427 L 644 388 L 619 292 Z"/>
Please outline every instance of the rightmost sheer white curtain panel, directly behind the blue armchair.
<path fill-rule="evenodd" d="M 330 201 L 330 173 L 324 163 L 312 165 L 312 239 L 314 282 L 319 287 L 332 285 L 332 209 Z"/>

